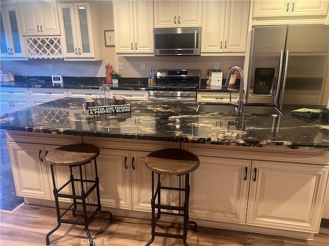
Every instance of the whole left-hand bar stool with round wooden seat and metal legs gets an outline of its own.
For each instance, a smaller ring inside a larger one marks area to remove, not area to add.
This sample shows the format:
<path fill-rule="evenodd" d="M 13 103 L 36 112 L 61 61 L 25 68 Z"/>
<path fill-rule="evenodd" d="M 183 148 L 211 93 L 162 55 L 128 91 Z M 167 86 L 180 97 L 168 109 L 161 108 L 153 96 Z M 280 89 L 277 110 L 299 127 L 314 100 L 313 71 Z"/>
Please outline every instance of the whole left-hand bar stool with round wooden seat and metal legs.
<path fill-rule="evenodd" d="M 103 214 L 109 214 L 109 220 L 113 221 L 113 216 L 111 212 L 102 211 L 101 210 L 101 203 L 100 203 L 100 192 L 99 192 L 99 178 L 97 173 L 97 163 L 96 157 L 99 155 L 99 149 L 94 145 L 88 144 L 78 144 L 78 145 L 67 145 L 63 147 L 56 148 L 46 155 L 46 160 L 50 164 L 51 168 L 51 176 L 52 176 L 52 183 L 53 183 L 53 195 L 55 197 L 55 204 L 56 204 L 56 212 L 57 212 L 57 221 L 58 225 L 54 229 L 52 229 L 46 236 L 46 244 L 49 245 L 49 236 L 56 230 L 58 230 L 61 226 L 61 223 L 68 223 L 68 224 L 79 224 L 84 226 L 89 245 L 93 246 L 93 238 L 90 235 L 88 224 L 92 221 L 95 215 L 100 212 Z M 86 165 L 87 163 L 92 162 L 94 160 L 95 164 L 95 180 L 84 179 L 82 176 L 82 166 Z M 68 166 L 70 169 L 70 179 L 59 189 L 56 188 L 55 177 L 54 177 L 54 166 Z M 74 178 L 72 173 L 73 167 L 79 167 L 80 178 Z M 75 182 L 80 183 L 81 195 L 76 194 L 76 185 Z M 91 187 L 90 185 L 93 184 Z M 62 189 L 71 185 L 72 194 L 63 194 L 60 193 Z M 84 190 L 84 185 L 89 189 L 87 191 Z M 87 203 L 86 199 L 88 196 L 96 189 L 97 193 L 97 204 L 94 203 Z M 64 198 L 71 198 L 73 202 L 70 206 L 61 214 L 60 207 L 59 207 L 59 197 Z M 79 201 L 77 201 L 79 200 Z M 81 200 L 81 201 L 80 201 Z M 76 216 L 77 204 L 82 204 L 82 212 L 83 212 L 83 221 L 79 220 L 69 220 L 63 219 L 62 217 L 69 211 L 72 210 L 73 217 Z M 88 217 L 87 216 L 87 209 L 86 206 L 96 207 L 94 212 Z"/>

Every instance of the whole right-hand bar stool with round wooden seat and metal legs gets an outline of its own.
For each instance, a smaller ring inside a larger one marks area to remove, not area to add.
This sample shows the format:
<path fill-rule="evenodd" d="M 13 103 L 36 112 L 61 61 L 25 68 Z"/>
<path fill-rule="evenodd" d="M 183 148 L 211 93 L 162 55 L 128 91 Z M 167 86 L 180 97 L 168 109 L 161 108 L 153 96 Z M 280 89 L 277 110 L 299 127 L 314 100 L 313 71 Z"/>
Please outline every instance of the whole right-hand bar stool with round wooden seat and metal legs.
<path fill-rule="evenodd" d="M 155 236 L 160 237 L 171 237 L 171 238 L 181 238 L 183 239 L 184 245 L 188 246 L 186 242 L 188 224 L 194 225 L 194 232 L 197 230 L 197 224 L 194 221 L 189 221 L 189 197 L 190 197 L 190 173 L 195 171 L 199 167 L 199 159 L 196 155 L 191 152 L 179 149 L 164 149 L 158 150 L 150 153 L 145 158 L 145 165 L 148 169 L 152 171 L 152 238 L 145 244 L 149 246 L 153 241 Z M 157 188 L 154 192 L 154 173 L 158 176 Z M 163 187 L 160 182 L 160 175 L 185 175 L 185 187 L 184 188 L 174 188 L 174 187 Z M 168 206 L 162 205 L 161 200 L 161 190 L 174 190 L 174 191 L 184 191 L 185 200 L 184 206 Z M 156 202 L 157 201 L 157 202 Z M 155 209 L 157 209 L 157 214 L 155 214 Z M 183 213 L 171 213 L 163 212 L 161 209 L 182 211 Z M 155 231 L 156 223 L 160 219 L 161 214 L 168 214 L 174 216 L 184 216 L 183 223 L 183 234 L 171 234 L 171 233 L 160 233 Z"/>

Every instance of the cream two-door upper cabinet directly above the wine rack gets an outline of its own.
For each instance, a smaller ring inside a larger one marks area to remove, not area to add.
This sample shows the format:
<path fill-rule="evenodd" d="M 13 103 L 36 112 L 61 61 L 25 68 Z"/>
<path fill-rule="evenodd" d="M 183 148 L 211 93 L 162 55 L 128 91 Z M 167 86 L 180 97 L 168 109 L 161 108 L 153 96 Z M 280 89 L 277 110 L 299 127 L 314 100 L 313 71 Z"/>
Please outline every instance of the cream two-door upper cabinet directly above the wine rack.
<path fill-rule="evenodd" d="M 56 1 L 19 1 L 23 35 L 61 35 Z"/>

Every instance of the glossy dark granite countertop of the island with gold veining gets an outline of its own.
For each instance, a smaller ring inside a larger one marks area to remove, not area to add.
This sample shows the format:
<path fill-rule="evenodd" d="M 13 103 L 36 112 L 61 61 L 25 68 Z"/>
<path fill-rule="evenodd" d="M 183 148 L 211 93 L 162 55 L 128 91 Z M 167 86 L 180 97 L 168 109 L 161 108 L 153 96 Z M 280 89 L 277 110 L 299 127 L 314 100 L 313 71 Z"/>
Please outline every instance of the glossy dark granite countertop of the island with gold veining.
<path fill-rule="evenodd" d="M 0 116 L 4 130 L 127 139 L 197 142 L 237 146 L 287 146 L 329 149 L 329 125 L 320 117 L 285 114 L 196 112 L 198 103 L 130 101 L 132 112 L 121 115 L 85 115 L 83 99 L 62 98 Z M 296 107 L 295 107 L 296 108 Z"/>

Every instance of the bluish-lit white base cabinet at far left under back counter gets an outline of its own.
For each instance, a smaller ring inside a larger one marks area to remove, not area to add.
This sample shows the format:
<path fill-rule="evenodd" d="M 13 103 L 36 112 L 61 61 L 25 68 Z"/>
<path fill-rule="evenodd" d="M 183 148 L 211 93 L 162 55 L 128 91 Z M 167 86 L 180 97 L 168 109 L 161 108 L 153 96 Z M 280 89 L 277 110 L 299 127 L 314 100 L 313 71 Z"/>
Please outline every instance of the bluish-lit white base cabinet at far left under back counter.
<path fill-rule="evenodd" d="M 0 114 L 7 114 L 30 107 L 28 88 L 1 88 Z"/>

